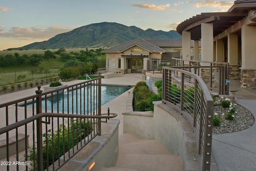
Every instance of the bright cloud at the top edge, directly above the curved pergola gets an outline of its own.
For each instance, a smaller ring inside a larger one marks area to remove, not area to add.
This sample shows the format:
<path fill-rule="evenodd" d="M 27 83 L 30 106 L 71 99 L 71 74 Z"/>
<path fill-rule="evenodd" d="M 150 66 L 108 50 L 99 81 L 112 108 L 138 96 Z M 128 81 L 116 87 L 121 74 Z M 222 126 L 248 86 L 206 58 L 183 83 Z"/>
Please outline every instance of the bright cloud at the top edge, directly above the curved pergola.
<path fill-rule="evenodd" d="M 203 0 L 198 0 L 197 2 L 198 3 L 193 5 L 196 8 L 207 6 L 210 8 L 218 8 L 217 11 L 225 11 L 225 10 L 227 11 L 234 4 L 234 2 L 226 2 L 226 0 L 222 0 L 222 1 L 205 0 L 205 2 Z"/>

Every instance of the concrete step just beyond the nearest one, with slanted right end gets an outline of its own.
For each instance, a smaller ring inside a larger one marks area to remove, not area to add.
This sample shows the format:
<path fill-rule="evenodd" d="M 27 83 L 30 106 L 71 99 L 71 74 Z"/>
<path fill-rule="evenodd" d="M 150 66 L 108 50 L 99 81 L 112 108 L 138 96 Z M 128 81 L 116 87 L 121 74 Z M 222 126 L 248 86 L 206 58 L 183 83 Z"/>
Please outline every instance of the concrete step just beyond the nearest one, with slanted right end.
<path fill-rule="evenodd" d="M 119 145 L 119 154 L 168 154 L 170 152 L 159 141 L 136 141 Z M 119 157 L 118 157 L 119 158 Z"/>

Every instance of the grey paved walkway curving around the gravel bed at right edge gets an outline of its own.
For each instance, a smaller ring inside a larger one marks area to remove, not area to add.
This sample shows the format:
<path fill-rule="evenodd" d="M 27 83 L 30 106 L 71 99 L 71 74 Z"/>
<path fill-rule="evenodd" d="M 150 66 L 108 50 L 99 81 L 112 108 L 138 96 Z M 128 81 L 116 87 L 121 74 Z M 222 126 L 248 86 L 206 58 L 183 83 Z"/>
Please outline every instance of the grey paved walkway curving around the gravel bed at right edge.
<path fill-rule="evenodd" d="M 240 80 L 230 80 L 229 90 L 239 90 L 235 102 L 256 118 L 256 89 L 243 89 Z M 256 171 L 256 124 L 244 131 L 213 135 L 212 152 L 219 171 Z"/>

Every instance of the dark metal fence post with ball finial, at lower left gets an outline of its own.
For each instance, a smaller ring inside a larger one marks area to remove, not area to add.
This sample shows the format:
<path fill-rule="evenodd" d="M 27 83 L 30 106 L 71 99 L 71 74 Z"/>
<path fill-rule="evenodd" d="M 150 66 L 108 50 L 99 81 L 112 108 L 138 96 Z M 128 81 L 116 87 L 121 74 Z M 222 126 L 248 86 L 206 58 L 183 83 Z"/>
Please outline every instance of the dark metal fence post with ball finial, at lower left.
<path fill-rule="evenodd" d="M 36 90 L 36 114 L 42 113 L 42 90 L 41 86 L 38 85 L 38 90 Z M 42 141 L 42 117 L 36 119 L 36 139 L 37 139 L 37 165 L 38 170 L 42 171 L 43 169 L 43 141 Z"/>

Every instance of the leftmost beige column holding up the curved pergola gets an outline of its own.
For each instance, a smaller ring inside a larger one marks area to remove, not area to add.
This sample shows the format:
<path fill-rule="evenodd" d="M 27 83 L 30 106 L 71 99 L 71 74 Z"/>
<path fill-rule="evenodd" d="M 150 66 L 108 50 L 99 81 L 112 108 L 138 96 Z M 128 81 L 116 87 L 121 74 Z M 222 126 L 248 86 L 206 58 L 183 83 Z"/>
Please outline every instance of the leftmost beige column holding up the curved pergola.
<path fill-rule="evenodd" d="M 191 58 L 191 33 L 182 32 L 182 59 L 190 60 Z"/>

